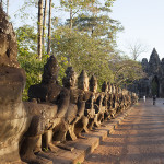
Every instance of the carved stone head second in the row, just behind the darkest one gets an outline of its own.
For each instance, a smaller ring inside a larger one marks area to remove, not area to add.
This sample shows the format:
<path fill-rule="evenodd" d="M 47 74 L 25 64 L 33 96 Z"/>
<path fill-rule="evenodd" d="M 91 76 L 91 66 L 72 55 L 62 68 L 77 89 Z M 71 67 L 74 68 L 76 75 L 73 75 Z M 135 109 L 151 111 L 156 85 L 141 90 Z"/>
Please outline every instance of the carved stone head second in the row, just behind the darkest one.
<path fill-rule="evenodd" d="M 66 77 L 62 79 L 65 87 L 75 87 L 78 74 L 72 67 L 68 67 L 66 70 Z"/>

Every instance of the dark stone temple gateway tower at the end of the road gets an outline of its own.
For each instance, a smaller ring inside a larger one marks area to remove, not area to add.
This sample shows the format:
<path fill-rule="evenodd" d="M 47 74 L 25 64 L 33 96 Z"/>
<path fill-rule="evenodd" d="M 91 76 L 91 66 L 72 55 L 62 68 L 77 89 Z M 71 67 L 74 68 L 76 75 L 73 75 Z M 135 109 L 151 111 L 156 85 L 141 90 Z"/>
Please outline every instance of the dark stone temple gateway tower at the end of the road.
<path fill-rule="evenodd" d="M 140 97 L 164 97 L 164 58 L 160 60 L 156 49 L 153 48 L 149 61 L 143 58 L 141 65 L 147 77 L 134 82 L 130 90 Z"/>

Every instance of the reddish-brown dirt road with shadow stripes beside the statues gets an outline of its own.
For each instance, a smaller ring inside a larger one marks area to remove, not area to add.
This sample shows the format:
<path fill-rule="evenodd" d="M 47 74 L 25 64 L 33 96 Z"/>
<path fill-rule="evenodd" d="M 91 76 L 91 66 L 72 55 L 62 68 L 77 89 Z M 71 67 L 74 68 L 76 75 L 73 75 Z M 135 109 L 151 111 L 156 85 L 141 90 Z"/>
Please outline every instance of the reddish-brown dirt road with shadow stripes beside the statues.
<path fill-rule="evenodd" d="M 83 164 L 164 164 L 163 103 L 141 101 Z"/>

